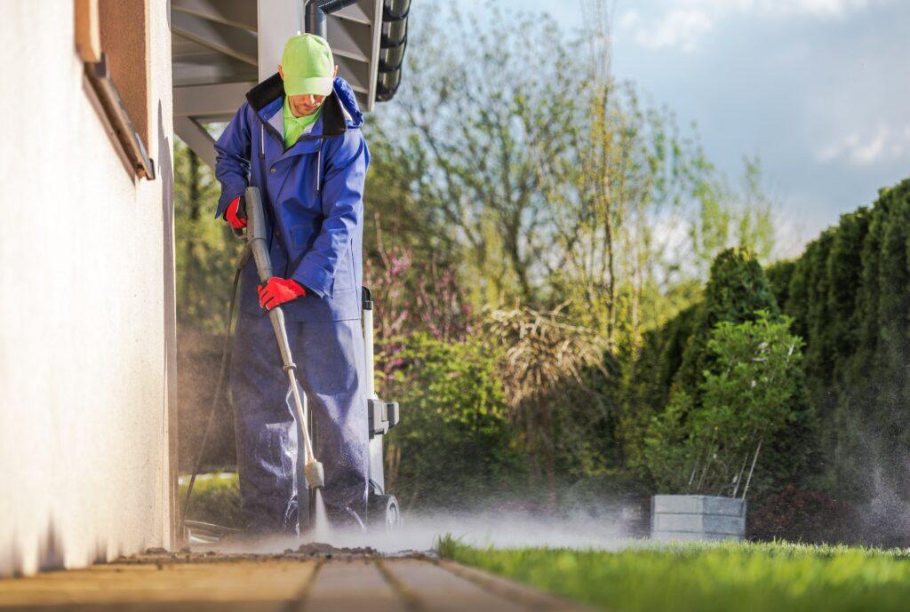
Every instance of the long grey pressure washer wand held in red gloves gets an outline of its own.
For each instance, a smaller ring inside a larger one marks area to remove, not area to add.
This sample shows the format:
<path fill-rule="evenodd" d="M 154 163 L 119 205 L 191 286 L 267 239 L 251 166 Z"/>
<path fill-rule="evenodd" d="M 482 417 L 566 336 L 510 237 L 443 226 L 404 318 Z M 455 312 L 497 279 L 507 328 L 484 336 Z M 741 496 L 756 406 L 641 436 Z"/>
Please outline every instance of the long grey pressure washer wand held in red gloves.
<path fill-rule="evenodd" d="M 258 187 L 247 187 L 247 241 L 256 261 L 256 271 L 259 281 L 268 282 L 272 274 L 272 262 L 268 256 L 268 238 L 266 235 L 266 217 L 262 209 L 262 196 Z M 297 366 L 290 354 L 288 343 L 288 330 L 285 327 L 284 312 L 281 306 L 275 306 L 268 311 L 275 338 L 278 340 L 278 351 L 281 353 L 281 364 L 288 375 L 291 396 L 294 397 L 294 406 L 297 408 L 297 420 L 303 432 L 304 463 L 303 473 L 307 477 L 307 484 L 311 489 L 322 487 L 325 484 L 325 472 L 322 464 L 313 456 L 313 443 L 309 436 L 307 423 L 307 396 L 300 394 L 297 382 Z"/>

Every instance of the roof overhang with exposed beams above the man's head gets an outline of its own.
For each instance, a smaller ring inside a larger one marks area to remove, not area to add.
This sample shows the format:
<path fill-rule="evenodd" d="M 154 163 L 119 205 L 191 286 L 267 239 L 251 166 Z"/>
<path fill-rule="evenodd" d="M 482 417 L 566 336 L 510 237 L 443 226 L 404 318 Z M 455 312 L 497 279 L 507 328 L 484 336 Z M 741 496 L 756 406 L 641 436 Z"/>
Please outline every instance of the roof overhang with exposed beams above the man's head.
<path fill-rule="evenodd" d="M 247 91 L 275 74 L 285 41 L 304 30 L 306 0 L 171 0 L 174 124 L 214 165 L 203 127 L 227 121 Z M 359 0 L 327 16 L 326 38 L 361 108 L 400 81 L 410 0 Z"/>

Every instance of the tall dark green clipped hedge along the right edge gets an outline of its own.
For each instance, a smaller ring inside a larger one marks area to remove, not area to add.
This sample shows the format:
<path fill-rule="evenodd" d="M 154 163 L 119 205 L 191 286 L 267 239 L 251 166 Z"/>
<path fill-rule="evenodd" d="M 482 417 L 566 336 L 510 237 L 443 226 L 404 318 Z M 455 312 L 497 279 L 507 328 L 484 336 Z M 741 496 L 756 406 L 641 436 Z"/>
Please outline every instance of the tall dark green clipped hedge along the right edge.
<path fill-rule="evenodd" d="M 767 276 L 784 315 L 794 319 L 791 333 L 806 344 L 803 369 L 812 410 L 779 436 L 782 444 L 811 455 L 794 482 L 824 487 L 835 500 L 864 508 L 875 527 L 864 534 L 866 541 L 910 541 L 905 527 L 889 522 L 905 516 L 910 504 L 910 180 L 883 189 L 873 206 L 842 216 L 803 256 L 771 266 Z M 708 294 L 699 306 L 703 313 L 716 309 L 708 302 L 718 294 Z M 681 371 L 674 383 L 689 401 L 700 352 L 693 337 L 685 376 Z M 646 343 L 634 367 L 653 373 L 673 363 L 671 356 L 654 361 Z M 665 392 L 659 376 L 640 380 L 636 396 L 659 398 Z"/>

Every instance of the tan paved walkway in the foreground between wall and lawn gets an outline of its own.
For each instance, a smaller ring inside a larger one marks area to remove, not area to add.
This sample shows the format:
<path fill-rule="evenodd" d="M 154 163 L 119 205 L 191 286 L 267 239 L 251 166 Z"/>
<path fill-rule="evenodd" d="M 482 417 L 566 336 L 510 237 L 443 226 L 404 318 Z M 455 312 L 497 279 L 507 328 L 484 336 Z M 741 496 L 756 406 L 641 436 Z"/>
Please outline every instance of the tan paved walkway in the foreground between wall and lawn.
<path fill-rule="evenodd" d="M 163 554 L 0 580 L 0 612 L 580 610 L 425 556 Z"/>

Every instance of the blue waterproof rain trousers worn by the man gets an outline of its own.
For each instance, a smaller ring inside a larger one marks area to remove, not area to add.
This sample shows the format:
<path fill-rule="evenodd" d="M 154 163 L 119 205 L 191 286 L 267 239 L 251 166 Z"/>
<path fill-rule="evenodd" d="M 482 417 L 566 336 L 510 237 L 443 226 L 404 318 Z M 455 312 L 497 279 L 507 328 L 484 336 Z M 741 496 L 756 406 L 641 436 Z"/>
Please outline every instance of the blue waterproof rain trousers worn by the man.
<path fill-rule="evenodd" d="M 359 321 L 287 321 L 298 380 L 315 421 L 329 517 L 366 517 L 369 444 Z M 241 315 L 231 364 L 240 501 L 248 529 L 295 533 L 308 492 L 297 420 L 268 316 Z"/>

